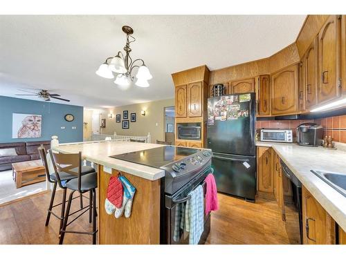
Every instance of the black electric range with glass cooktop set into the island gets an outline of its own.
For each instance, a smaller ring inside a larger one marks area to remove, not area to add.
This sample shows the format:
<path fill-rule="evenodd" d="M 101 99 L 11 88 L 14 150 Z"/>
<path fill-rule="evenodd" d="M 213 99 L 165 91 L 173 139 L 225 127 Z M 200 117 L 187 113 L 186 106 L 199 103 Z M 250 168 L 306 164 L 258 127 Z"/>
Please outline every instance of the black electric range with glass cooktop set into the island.
<path fill-rule="evenodd" d="M 111 157 L 144 164 L 165 170 L 165 178 L 161 178 L 161 211 L 160 211 L 160 242 L 161 244 L 186 244 L 189 238 L 176 224 L 176 211 L 182 208 L 179 204 L 190 199 L 189 193 L 201 185 L 206 192 L 204 179 L 212 171 L 212 152 L 197 148 L 179 146 L 160 146 L 142 151 L 111 155 Z M 206 199 L 203 199 L 205 207 Z M 210 213 L 204 215 L 204 230 L 199 241 L 206 242 L 210 232 Z M 177 235 L 176 233 L 179 233 Z"/>

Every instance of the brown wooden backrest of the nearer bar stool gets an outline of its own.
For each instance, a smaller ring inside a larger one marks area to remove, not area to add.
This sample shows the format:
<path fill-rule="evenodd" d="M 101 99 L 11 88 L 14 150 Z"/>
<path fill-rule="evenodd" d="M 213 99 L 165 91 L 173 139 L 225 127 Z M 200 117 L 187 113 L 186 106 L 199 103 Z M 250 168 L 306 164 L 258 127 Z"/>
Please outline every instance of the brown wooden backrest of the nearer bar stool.
<path fill-rule="evenodd" d="M 53 153 L 51 149 L 49 149 L 48 152 L 51 155 L 54 173 L 60 187 L 64 188 L 59 173 L 69 173 L 78 177 L 78 191 L 80 191 L 82 178 L 82 152 L 76 154 L 62 154 Z"/>

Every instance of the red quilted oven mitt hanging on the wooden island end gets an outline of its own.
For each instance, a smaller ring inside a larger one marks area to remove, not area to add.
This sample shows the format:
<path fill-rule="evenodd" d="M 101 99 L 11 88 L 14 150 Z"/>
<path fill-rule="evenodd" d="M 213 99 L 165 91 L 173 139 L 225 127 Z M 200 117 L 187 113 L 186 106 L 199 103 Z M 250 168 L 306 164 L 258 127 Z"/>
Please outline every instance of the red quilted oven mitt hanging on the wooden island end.
<path fill-rule="evenodd" d="M 122 207 L 123 187 L 118 177 L 111 176 L 107 188 L 107 198 L 104 201 L 104 208 L 107 214 L 111 215 L 117 207 Z"/>

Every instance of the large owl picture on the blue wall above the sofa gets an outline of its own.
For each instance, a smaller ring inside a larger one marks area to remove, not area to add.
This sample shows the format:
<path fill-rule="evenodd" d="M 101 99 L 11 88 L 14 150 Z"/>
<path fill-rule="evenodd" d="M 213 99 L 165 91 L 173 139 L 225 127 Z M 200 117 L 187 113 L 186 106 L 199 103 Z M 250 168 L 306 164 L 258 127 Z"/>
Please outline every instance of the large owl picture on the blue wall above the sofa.
<path fill-rule="evenodd" d="M 42 115 L 12 113 L 12 138 L 41 137 Z"/>

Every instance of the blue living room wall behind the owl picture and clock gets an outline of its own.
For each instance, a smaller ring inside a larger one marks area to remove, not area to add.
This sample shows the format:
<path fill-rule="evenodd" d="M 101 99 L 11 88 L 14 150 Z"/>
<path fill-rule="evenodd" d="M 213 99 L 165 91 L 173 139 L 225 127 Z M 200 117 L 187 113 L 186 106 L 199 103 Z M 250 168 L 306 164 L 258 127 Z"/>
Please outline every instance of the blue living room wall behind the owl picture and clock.
<path fill-rule="evenodd" d="M 42 115 L 42 137 L 12 139 L 12 113 Z M 64 119 L 69 113 L 75 117 L 73 122 Z M 60 143 L 83 141 L 83 107 L 0 96 L 0 143 L 51 140 L 52 135 Z"/>

